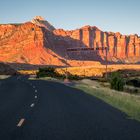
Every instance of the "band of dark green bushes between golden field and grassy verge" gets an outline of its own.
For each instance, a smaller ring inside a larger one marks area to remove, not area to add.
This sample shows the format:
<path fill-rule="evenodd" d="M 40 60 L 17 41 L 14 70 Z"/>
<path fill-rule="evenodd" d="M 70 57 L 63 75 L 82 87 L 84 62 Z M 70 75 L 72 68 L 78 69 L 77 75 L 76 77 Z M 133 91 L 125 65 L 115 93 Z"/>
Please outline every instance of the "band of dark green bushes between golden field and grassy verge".
<path fill-rule="evenodd" d="M 62 72 L 63 71 L 63 72 Z M 55 78 L 59 80 L 63 79 L 69 79 L 69 80 L 81 80 L 81 79 L 91 79 L 96 80 L 98 82 L 101 82 L 102 84 L 108 84 L 108 87 L 111 89 L 115 89 L 118 91 L 124 91 L 128 92 L 130 94 L 139 94 L 140 93 L 140 79 L 135 78 L 140 76 L 140 71 L 126 71 L 126 70 L 119 70 L 115 72 L 108 73 L 108 79 L 104 77 L 99 76 L 78 76 L 76 74 L 71 74 L 68 69 L 61 69 L 61 72 L 58 71 L 58 68 L 54 67 L 45 67 L 45 68 L 39 68 L 38 71 L 36 71 L 36 77 L 37 78 Z"/>

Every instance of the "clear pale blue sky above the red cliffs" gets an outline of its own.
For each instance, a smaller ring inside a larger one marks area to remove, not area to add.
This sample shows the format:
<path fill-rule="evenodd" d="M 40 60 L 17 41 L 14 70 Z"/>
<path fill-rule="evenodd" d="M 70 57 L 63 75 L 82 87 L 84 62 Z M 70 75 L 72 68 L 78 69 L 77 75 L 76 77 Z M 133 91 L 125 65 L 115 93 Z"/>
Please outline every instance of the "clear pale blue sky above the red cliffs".
<path fill-rule="evenodd" d="M 140 0 L 0 0 L 0 24 L 42 16 L 56 28 L 85 25 L 140 35 Z"/>

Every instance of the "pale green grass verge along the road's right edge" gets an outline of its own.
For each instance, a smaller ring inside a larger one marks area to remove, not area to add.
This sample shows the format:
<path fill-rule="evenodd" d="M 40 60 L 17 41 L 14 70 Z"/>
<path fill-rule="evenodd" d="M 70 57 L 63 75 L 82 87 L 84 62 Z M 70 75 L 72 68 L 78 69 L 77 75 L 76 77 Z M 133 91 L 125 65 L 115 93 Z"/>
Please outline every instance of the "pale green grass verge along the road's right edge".
<path fill-rule="evenodd" d="M 83 83 L 77 84 L 75 87 L 119 109 L 131 119 L 140 121 L 140 96 L 130 95 L 108 88 L 97 88 Z"/>

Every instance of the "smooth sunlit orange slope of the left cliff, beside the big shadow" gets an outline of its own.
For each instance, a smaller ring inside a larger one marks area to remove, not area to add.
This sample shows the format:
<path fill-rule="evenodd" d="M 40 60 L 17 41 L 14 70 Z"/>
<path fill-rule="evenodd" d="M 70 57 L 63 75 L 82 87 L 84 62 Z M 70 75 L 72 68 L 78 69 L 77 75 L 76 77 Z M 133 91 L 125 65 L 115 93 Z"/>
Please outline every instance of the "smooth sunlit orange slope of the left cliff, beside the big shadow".
<path fill-rule="evenodd" d="M 49 32 L 31 22 L 21 25 L 0 25 L 0 61 L 9 63 L 63 65 L 57 54 L 48 48 L 44 34 Z"/>

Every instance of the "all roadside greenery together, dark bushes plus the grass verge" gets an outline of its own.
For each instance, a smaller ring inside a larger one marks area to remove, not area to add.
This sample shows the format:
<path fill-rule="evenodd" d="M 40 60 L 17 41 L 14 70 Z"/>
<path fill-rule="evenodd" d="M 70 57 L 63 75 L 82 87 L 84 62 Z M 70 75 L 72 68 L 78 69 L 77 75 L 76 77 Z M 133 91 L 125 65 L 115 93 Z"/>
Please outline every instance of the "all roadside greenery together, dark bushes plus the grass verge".
<path fill-rule="evenodd" d="M 108 74 L 108 79 L 105 77 L 83 77 L 72 75 L 66 69 L 63 69 L 63 74 L 59 73 L 53 67 L 40 68 L 37 73 L 37 78 L 45 78 L 45 80 L 63 80 L 67 78 L 72 80 L 74 87 L 83 90 L 85 93 L 95 96 L 111 106 L 125 112 L 131 119 L 140 121 L 140 88 L 139 72 L 130 72 L 127 74 L 124 71 L 116 71 Z M 137 82 L 133 79 L 137 77 Z M 136 85 L 136 86 L 135 86 Z"/>

